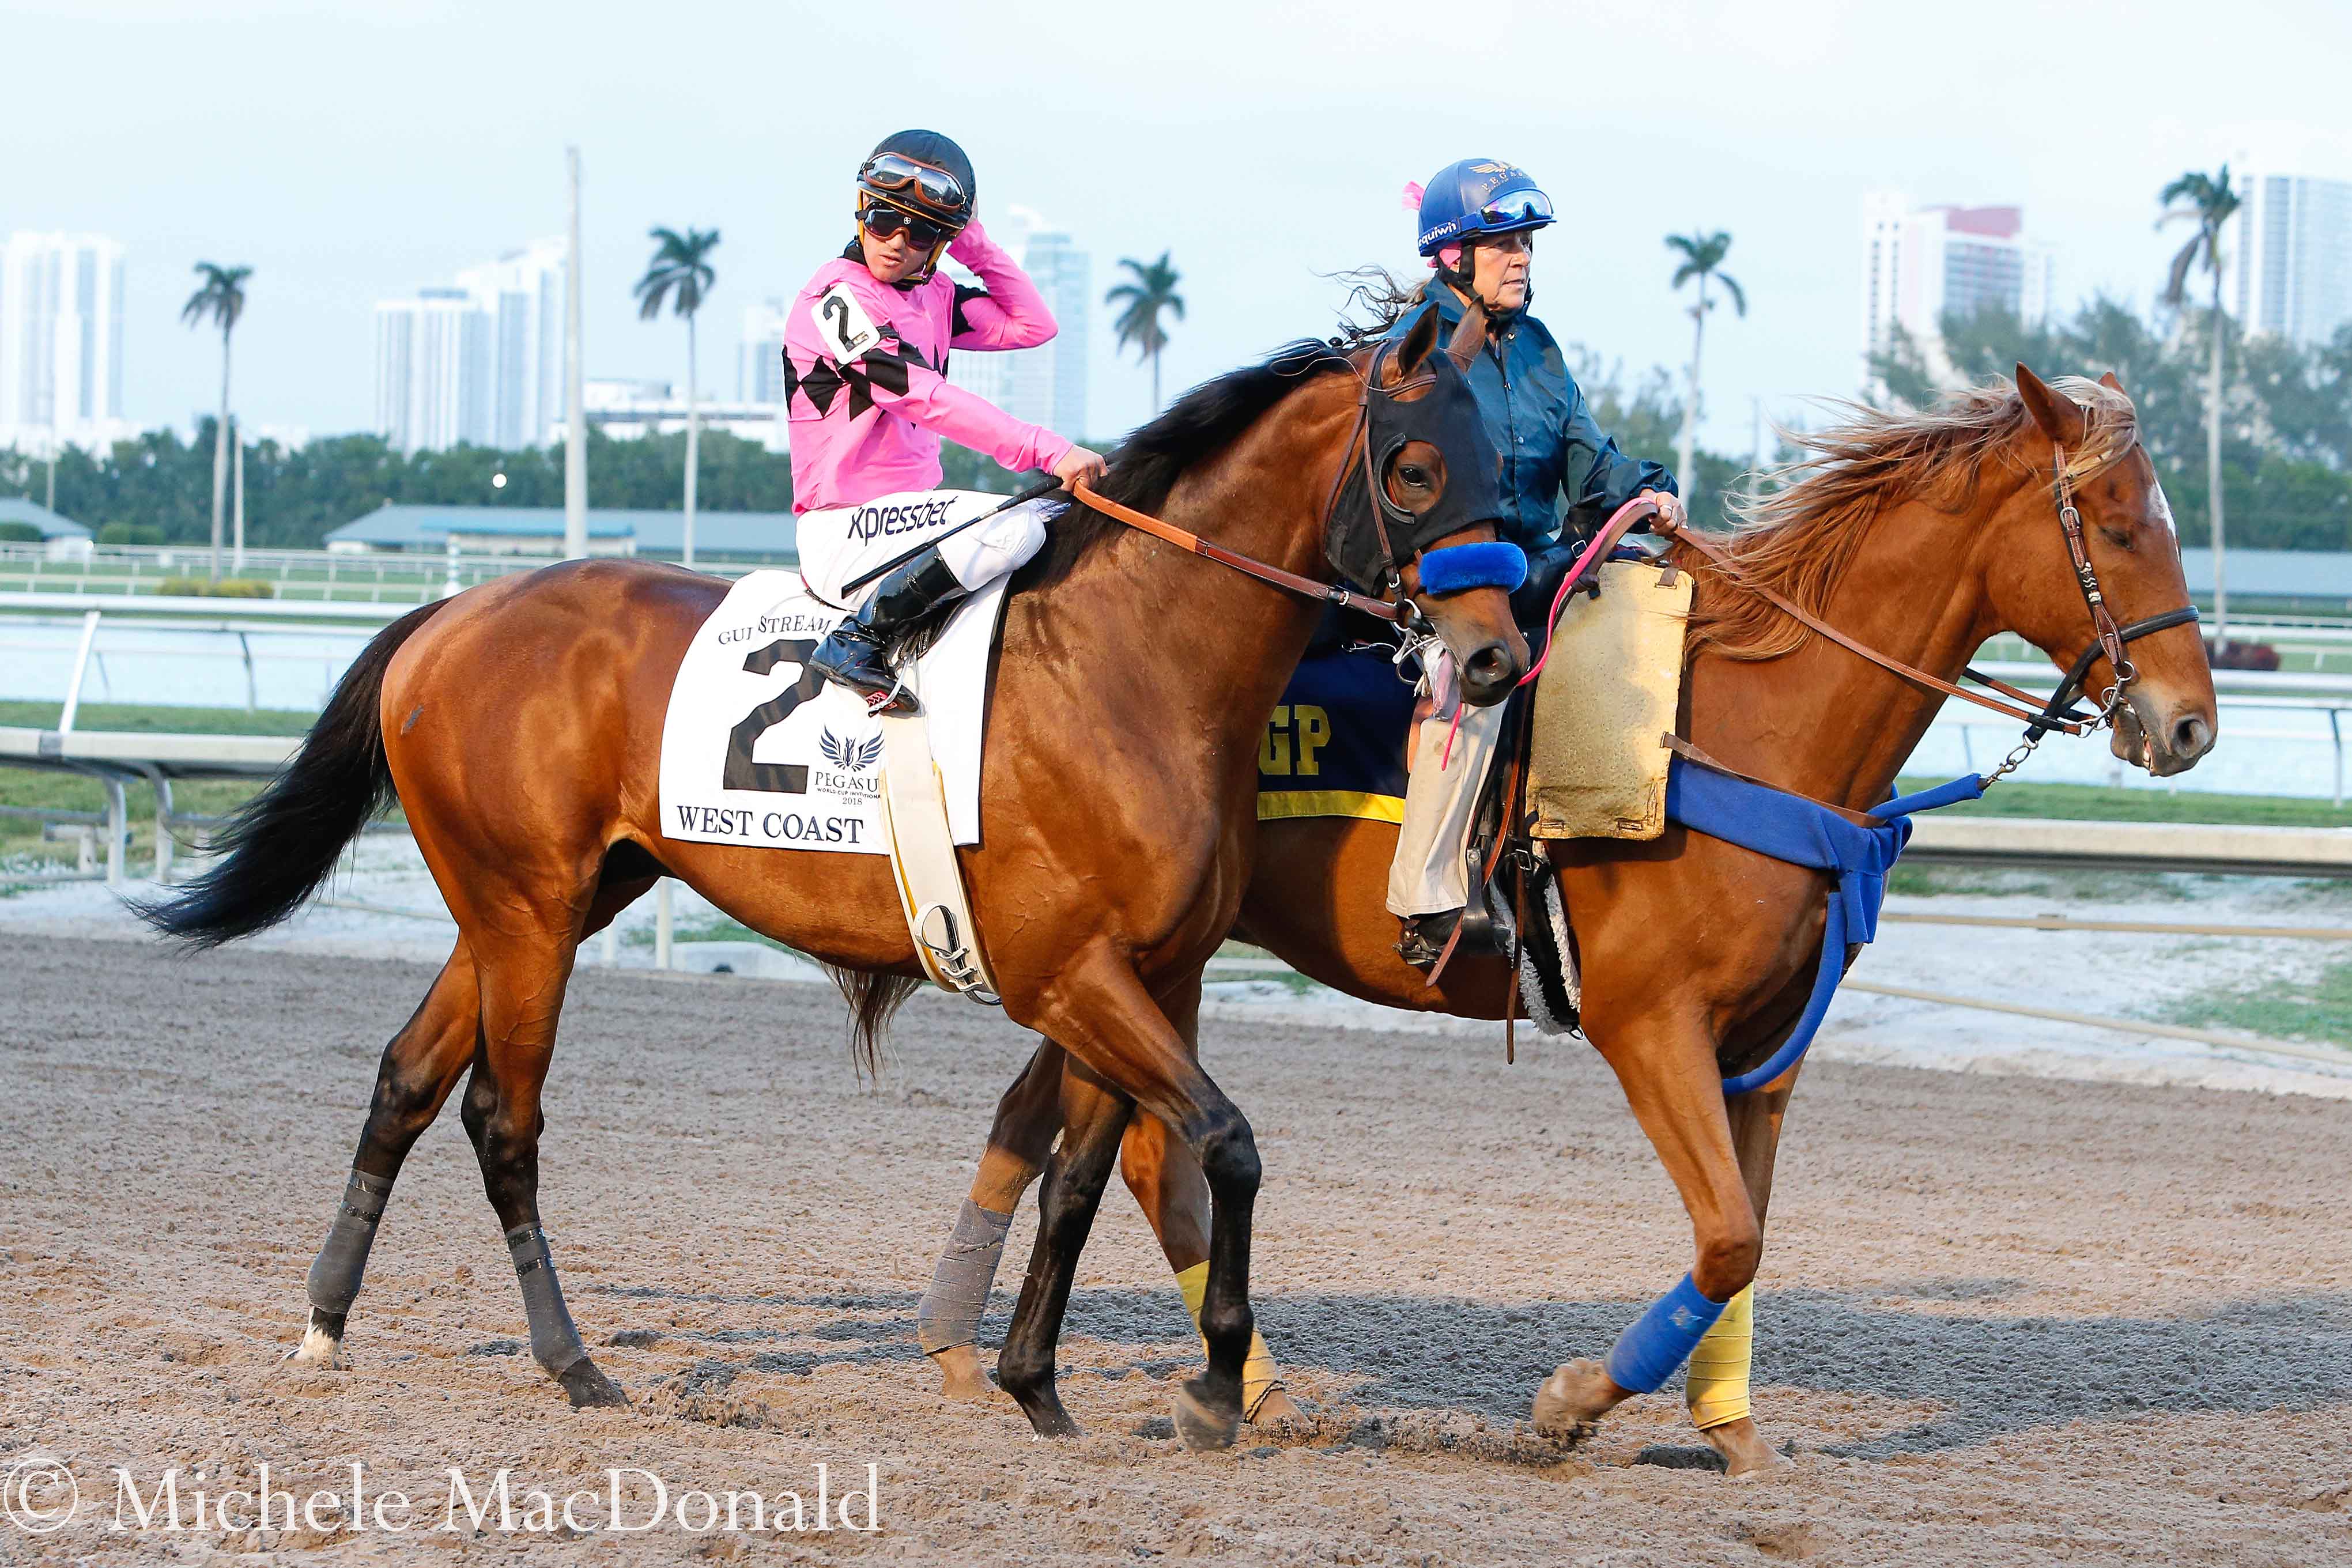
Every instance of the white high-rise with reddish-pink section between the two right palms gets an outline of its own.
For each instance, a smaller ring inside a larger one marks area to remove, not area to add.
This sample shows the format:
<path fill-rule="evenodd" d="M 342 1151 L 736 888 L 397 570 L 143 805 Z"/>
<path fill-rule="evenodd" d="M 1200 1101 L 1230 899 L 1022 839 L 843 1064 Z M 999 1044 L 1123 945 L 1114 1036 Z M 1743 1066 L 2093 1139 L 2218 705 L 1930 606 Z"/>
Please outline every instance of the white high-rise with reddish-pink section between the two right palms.
<path fill-rule="evenodd" d="M 1903 327 L 1938 374 L 1950 371 L 1943 317 L 2002 308 L 2049 320 L 2058 259 L 2025 237 L 2020 207 L 1912 207 L 1877 190 L 1863 197 L 1863 378 Z"/>

